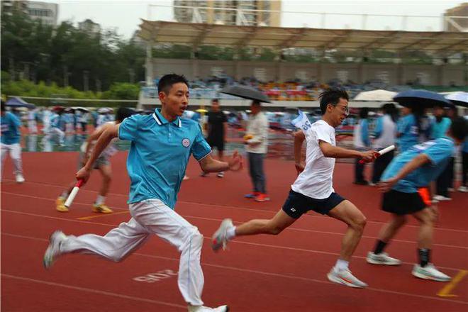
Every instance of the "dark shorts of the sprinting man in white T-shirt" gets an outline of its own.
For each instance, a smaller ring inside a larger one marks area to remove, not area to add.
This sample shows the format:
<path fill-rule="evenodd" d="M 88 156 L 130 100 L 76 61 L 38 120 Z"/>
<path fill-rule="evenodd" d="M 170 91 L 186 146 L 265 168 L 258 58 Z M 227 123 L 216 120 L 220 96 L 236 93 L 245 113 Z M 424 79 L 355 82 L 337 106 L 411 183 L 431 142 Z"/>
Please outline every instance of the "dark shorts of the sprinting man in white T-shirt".
<path fill-rule="evenodd" d="M 321 214 L 327 214 L 344 201 L 340 195 L 336 193 L 330 194 L 326 199 L 313 199 L 296 191 L 289 191 L 289 196 L 284 202 L 283 211 L 291 218 L 299 218 L 309 210 L 316 211 Z"/>

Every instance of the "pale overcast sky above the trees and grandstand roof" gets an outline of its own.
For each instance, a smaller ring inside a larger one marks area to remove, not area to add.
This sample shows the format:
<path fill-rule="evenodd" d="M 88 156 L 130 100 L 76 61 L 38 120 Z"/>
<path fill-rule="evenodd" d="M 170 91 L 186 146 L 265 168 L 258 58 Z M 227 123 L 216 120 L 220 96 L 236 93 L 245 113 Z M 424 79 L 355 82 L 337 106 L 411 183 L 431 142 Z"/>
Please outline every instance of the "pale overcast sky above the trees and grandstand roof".
<path fill-rule="evenodd" d="M 70 1 L 42 0 L 59 4 L 59 23 L 73 21 L 77 23 L 90 18 L 103 28 L 116 28 L 119 34 L 130 38 L 138 29 L 140 18 L 170 21 L 172 19 L 171 0 L 165 1 Z M 463 1 L 282 1 L 282 11 L 327 13 L 325 24 L 321 14 L 283 13 L 284 27 L 311 28 L 362 28 L 361 16 L 338 16 L 333 13 L 369 14 L 366 21 L 367 29 L 400 30 L 403 18 L 392 16 L 372 16 L 372 14 L 396 16 L 433 16 L 425 18 L 406 18 L 406 30 L 442 30 L 440 16 L 445 10 L 462 4 Z M 148 4 L 154 4 L 148 9 Z M 148 12 L 150 11 L 150 16 Z"/>

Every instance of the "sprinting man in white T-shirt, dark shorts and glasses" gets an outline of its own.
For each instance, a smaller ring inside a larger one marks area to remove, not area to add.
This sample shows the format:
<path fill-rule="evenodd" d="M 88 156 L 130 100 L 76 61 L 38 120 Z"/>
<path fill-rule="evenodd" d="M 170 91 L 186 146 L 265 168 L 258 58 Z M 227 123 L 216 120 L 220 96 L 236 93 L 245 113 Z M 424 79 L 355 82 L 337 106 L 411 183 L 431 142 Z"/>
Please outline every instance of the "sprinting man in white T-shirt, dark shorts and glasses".
<path fill-rule="evenodd" d="M 350 201 L 343 199 L 333 189 L 333 168 L 335 158 L 362 158 L 372 162 L 377 152 L 374 150 L 347 150 L 335 146 L 335 127 L 348 115 L 348 95 L 342 89 L 326 89 L 321 93 L 320 106 L 322 119 L 311 123 L 305 114 L 293 121 L 301 131 L 294 136 L 294 156 L 299 173 L 282 209 L 269 220 L 251 220 L 235 227 L 230 219 L 225 219 L 213 235 L 213 250 L 223 249 L 235 236 L 272 234 L 277 235 L 293 224 L 309 210 L 326 214 L 347 224 L 342 240 L 341 252 L 335 266 L 328 273 L 331 282 L 362 288 L 367 286 L 354 277 L 348 269 L 350 258 L 360 242 L 366 218 Z M 301 160 L 301 147 L 306 140 L 306 164 Z"/>

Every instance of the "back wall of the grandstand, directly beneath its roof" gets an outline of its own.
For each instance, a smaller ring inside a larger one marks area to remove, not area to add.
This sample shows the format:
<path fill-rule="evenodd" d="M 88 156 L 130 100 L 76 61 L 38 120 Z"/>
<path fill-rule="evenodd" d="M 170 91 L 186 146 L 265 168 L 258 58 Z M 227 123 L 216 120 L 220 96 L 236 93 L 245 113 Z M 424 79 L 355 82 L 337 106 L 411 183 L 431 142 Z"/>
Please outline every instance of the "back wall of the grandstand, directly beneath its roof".
<path fill-rule="evenodd" d="M 289 62 L 246 62 L 211 60 L 174 60 L 154 58 L 152 77 L 172 72 L 185 74 L 189 79 L 209 77 L 223 72 L 230 77 L 257 77 L 265 82 L 284 82 L 289 79 L 316 80 L 350 79 L 362 84 L 372 79 L 382 79 L 388 84 L 406 84 L 418 80 L 423 85 L 467 85 L 466 65 L 402 65 L 402 64 L 321 64 Z"/>

